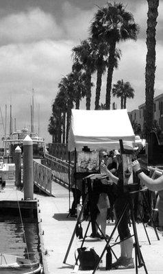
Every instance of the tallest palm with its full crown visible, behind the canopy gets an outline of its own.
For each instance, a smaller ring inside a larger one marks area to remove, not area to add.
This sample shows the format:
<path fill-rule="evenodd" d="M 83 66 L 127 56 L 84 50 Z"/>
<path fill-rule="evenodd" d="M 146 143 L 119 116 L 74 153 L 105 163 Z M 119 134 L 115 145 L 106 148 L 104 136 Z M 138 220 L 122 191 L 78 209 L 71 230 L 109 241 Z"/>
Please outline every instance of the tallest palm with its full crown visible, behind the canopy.
<path fill-rule="evenodd" d="M 129 39 L 136 40 L 139 28 L 134 22 L 134 16 L 125 11 L 124 5 L 114 2 L 114 4 L 107 3 L 104 7 L 99 8 L 90 29 L 92 38 L 108 42 L 108 45 L 110 45 L 105 95 L 106 109 L 110 109 L 116 43 Z"/>

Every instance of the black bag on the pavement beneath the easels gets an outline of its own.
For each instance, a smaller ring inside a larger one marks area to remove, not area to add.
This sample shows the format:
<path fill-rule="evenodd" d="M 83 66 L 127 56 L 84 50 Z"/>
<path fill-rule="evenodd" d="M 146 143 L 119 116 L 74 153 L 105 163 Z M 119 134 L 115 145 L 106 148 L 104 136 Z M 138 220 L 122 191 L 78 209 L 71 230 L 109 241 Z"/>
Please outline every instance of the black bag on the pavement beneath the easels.
<path fill-rule="evenodd" d="M 86 247 L 80 247 L 77 249 L 79 254 L 79 263 L 82 270 L 95 269 L 97 262 L 99 262 L 99 255 L 92 248 L 86 250 Z M 77 261 L 76 255 L 75 260 Z"/>

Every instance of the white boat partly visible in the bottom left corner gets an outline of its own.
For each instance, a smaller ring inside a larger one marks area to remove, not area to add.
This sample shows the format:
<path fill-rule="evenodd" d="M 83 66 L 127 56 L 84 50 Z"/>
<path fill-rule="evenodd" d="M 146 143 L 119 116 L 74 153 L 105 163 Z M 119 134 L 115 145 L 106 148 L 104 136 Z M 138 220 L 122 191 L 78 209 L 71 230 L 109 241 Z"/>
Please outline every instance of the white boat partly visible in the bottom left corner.
<path fill-rule="evenodd" d="M 0 254 L 0 273 L 34 274 L 41 273 L 41 271 L 42 266 L 39 262 L 32 262 L 23 257 L 10 254 Z"/>

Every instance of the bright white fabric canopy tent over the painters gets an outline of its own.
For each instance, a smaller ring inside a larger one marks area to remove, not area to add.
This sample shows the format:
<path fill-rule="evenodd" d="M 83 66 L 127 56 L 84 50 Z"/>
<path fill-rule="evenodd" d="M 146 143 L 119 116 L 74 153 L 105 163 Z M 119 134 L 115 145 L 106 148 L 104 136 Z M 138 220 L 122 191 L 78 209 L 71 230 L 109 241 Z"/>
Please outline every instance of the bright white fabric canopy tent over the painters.
<path fill-rule="evenodd" d="M 84 146 L 90 150 L 119 149 L 119 139 L 133 147 L 135 135 L 127 110 L 71 110 L 69 151 L 82 151 Z"/>

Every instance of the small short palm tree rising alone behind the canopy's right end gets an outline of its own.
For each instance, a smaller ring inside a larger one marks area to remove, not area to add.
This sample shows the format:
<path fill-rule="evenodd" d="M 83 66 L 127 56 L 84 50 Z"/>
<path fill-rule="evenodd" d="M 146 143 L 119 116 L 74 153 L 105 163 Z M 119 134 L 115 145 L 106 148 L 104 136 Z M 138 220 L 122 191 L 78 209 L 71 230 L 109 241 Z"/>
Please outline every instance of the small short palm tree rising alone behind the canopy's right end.
<path fill-rule="evenodd" d="M 115 97 L 121 97 L 121 109 L 126 108 L 127 98 L 134 98 L 134 88 L 131 87 L 129 82 L 123 82 L 118 80 L 116 84 L 113 85 L 112 95 Z"/>

